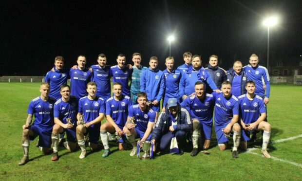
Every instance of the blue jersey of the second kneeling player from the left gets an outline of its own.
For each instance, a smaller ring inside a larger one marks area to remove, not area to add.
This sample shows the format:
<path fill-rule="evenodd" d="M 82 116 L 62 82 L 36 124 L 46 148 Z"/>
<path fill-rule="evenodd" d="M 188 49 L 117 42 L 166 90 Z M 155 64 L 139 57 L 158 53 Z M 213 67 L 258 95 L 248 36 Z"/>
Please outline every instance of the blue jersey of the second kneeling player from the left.
<path fill-rule="evenodd" d="M 76 124 L 77 104 L 75 97 L 71 97 L 68 102 L 64 102 L 60 98 L 54 106 L 54 117 L 58 118 L 64 124 L 67 124 L 66 118 L 71 118 L 71 122 Z"/>

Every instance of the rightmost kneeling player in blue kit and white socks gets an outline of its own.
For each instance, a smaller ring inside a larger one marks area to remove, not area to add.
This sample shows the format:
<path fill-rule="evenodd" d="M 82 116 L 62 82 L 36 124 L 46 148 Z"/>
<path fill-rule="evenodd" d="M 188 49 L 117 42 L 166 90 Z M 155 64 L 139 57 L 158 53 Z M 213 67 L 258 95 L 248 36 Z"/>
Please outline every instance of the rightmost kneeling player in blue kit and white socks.
<path fill-rule="evenodd" d="M 255 94 L 256 84 L 249 80 L 246 83 L 246 94 L 239 96 L 239 105 L 241 110 L 241 131 L 242 147 L 246 150 L 246 141 L 250 140 L 249 133 L 251 131 L 263 130 L 262 154 L 266 158 L 270 158 L 267 152 L 267 144 L 269 143 L 271 128 L 270 124 L 265 122 L 266 117 L 265 105 L 263 99 Z"/>

